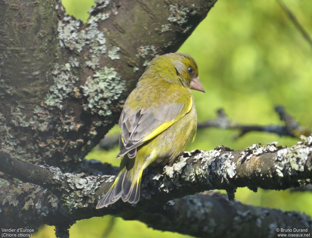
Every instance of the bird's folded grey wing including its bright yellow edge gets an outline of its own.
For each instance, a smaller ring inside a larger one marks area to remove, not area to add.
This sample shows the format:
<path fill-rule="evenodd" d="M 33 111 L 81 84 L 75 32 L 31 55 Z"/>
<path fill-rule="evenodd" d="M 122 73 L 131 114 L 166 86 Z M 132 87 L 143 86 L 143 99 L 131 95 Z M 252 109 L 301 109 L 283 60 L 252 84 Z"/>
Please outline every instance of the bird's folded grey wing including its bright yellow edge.
<path fill-rule="evenodd" d="M 154 138 L 191 111 L 192 94 L 189 90 L 183 91 L 171 102 L 158 107 L 141 108 L 136 111 L 127 110 L 127 107 L 124 107 L 119 119 L 124 148 L 117 158 L 125 154 L 133 158 L 138 146 Z"/>

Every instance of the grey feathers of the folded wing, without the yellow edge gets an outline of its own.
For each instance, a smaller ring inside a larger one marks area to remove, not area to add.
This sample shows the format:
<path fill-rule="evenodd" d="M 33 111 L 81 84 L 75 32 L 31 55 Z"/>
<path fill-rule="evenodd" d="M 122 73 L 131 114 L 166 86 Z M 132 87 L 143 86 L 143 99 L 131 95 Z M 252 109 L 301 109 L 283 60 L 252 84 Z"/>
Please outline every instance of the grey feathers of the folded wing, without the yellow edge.
<path fill-rule="evenodd" d="M 143 143 L 144 137 L 163 122 L 174 120 L 180 116 L 183 107 L 182 103 L 171 103 L 152 110 L 138 110 L 132 115 L 124 110 L 119 120 L 124 148 L 119 152 L 117 158 L 125 154 L 128 154 L 129 158 L 134 158 L 136 148 Z"/>

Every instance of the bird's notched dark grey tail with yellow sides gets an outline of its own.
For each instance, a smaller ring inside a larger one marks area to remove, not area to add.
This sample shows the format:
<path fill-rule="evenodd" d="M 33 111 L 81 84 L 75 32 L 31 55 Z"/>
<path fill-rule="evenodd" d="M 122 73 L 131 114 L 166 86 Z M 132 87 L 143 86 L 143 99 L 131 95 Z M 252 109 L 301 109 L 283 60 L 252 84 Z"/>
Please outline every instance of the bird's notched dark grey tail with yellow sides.
<path fill-rule="evenodd" d="M 128 171 L 126 167 L 121 169 L 110 190 L 97 204 L 96 209 L 106 207 L 119 198 L 124 202 L 137 203 L 140 198 L 142 172 L 143 169 L 138 169 L 138 171 L 134 171 L 133 168 Z"/>

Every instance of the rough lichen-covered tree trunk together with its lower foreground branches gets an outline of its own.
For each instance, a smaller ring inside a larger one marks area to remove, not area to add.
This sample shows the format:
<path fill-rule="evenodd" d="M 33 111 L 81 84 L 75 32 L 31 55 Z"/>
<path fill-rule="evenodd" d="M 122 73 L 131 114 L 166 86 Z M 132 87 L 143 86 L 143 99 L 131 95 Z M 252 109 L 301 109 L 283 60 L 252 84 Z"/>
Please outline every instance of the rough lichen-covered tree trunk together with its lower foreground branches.
<path fill-rule="evenodd" d="M 311 137 L 288 149 L 255 145 L 184 154 L 146 173 L 138 206 L 118 202 L 95 210 L 117 168 L 84 161 L 85 155 L 116 123 L 149 60 L 176 51 L 215 2 L 97 1 L 82 24 L 60 1 L 0 0 L 0 226 L 56 225 L 57 236 L 67 237 L 76 220 L 114 214 L 199 237 L 227 227 L 230 218 L 237 223 L 222 234 L 249 236 L 247 220 L 266 228 L 261 236 L 275 234 L 275 226 L 311 228 L 311 219 L 295 212 L 212 194 L 181 198 L 217 188 L 232 198 L 240 186 L 310 183 Z M 187 221 L 200 226 L 185 229 Z"/>

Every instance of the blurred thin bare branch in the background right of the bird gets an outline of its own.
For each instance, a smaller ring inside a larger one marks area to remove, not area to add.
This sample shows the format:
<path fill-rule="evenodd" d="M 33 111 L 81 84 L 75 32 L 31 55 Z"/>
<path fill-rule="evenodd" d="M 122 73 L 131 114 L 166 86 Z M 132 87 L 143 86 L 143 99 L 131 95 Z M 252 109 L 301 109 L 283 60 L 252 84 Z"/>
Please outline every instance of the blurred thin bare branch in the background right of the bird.
<path fill-rule="evenodd" d="M 284 121 L 285 125 L 243 125 L 236 121 L 232 121 L 225 113 L 224 109 L 217 110 L 217 118 L 210 119 L 198 123 L 197 128 L 217 127 L 222 129 L 238 130 L 239 134 L 236 138 L 245 135 L 251 131 L 263 131 L 275 133 L 279 136 L 291 136 L 299 138 L 301 135 L 309 136 L 311 131 L 299 124 L 290 114 L 288 114 L 283 106 L 276 106 L 275 112 L 280 116 L 280 120 Z"/>

